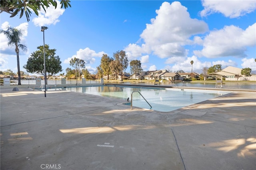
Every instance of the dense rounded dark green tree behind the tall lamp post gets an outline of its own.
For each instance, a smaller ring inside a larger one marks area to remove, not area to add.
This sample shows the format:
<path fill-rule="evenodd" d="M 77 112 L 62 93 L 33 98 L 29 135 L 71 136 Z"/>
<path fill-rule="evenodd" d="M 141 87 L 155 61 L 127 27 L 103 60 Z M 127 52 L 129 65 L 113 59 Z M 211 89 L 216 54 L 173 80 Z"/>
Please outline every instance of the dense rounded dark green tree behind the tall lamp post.
<path fill-rule="evenodd" d="M 31 53 L 27 64 L 23 66 L 28 73 L 37 73 L 44 75 L 44 52 L 46 76 L 49 78 L 62 71 L 61 61 L 59 56 L 55 56 L 56 49 L 49 49 L 49 45 L 41 45 L 37 47 L 37 51 Z"/>

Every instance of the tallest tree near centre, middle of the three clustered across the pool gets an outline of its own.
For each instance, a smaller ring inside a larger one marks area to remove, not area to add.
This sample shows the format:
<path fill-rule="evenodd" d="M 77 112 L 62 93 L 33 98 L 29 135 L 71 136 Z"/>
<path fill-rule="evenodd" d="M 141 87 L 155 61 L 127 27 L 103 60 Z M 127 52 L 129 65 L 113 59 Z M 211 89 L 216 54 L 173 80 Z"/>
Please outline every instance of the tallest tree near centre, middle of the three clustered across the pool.
<path fill-rule="evenodd" d="M 125 51 L 116 51 L 114 53 L 114 59 L 116 61 L 117 74 L 121 73 L 121 80 L 123 80 L 123 71 L 128 67 L 128 58 Z"/>

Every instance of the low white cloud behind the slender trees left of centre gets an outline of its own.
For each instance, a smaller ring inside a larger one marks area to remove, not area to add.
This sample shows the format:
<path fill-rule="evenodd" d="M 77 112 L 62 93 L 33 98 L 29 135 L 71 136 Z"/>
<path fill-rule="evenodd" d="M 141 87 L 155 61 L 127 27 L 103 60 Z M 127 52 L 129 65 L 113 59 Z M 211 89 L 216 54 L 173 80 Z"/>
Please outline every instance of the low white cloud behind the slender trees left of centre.
<path fill-rule="evenodd" d="M 103 51 L 96 53 L 94 50 L 86 47 L 85 49 L 79 49 L 79 51 L 76 51 L 76 55 L 73 55 L 72 57 L 69 57 L 64 60 L 64 63 L 69 64 L 70 60 L 74 57 L 83 59 L 86 64 L 91 64 L 95 62 L 95 57 L 102 57 L 104 53 Z"/>

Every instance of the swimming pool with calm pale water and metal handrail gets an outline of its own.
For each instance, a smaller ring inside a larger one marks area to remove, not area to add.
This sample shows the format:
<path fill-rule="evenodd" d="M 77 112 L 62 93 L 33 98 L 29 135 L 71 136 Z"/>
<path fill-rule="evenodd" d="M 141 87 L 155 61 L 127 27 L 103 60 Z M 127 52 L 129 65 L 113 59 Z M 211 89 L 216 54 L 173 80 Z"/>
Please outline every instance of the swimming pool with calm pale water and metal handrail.
<path fill-rule="evenodd" d="M 213 99 L 230 92 L 226 91 L 203 91 L 172 88 L 154 88 L 154 87 L 128 87 L 128 86 L 90 86 L 90 87 L 66 87 L 67 91 L 87 93 L 91 95 L 100 95 L 104 97 L 114 97 L 127 101 L 131 100 L 133 91 L 139 91 L 142 96 L 152 106 L 152 110 L 169 112 L 188 105 Z M 150 109 L 148 103 L 139 93 L 133 93 L 132 106 Z"/>

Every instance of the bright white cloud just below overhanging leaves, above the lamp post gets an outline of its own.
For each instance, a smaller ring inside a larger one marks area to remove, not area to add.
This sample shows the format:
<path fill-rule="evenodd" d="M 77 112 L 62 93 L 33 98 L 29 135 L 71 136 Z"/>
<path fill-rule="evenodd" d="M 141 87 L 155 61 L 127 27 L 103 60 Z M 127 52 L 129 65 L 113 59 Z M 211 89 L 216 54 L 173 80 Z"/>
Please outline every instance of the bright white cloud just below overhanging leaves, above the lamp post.
<path fill-rule="evenodd" d="M 64 13 L 64 9 L 60 8 L 60 1 L 57 0 L 57 8 L 50 5 L 50 7 L 46 8 L 46 13 L 44 10 L 38 12 L 38 16 L 33 18 L 32 22 L 35 26 L 46 26 L 50 24 L 56 24 L 60 22 L 58 18 Z"/>

